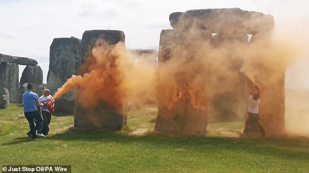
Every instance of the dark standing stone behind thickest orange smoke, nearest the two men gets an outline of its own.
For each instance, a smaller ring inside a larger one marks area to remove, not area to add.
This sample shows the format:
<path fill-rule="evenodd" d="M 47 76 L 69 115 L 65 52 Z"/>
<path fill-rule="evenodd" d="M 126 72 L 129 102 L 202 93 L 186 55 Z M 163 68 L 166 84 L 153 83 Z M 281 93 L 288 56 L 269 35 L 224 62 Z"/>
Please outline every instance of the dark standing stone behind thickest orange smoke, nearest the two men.
<path fill-rule="evenodd" d="M 114 30 L 93 30 L 85 31 L 81 40 L 81 59 L 85 62 L 92 56 L 92 48 L 98 38 L 103 39 L 107 44 L 114 45 L 118 42 L 125 42 L 125 35 L 122 31 Z M 79 70 L 79 75 L 89 72 L 89 67 Z M 104 101 L 98 101 L 95 108 L 89 109 L 82 105 L 85 102 L 79 93 L 84 92 L 82 88 L 77 88 L 76 106 L 74 115 L 74 125 L 76 127 L 88 129 L 121 129 L 127 123 L 127 106 L 121 102 L 117 106 Z M 125 96 L 120 95 L 122 100 Z"/>

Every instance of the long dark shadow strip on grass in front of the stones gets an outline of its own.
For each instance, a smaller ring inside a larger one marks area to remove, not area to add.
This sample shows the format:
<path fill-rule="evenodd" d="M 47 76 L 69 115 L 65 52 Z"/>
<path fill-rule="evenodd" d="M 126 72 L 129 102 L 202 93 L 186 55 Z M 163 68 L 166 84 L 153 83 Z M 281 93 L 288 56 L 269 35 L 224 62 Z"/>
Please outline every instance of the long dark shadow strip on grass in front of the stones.
<path fill-rule="evenodd" d="M 236 153 L 255 153 L 295 159 L 301 156 L 309 161 L 309 138 L 226 138 L 226 137 L 168 137 L 157 134 L 143 136 L 130 135 L 127 132 L 89 131 L 69 128 L 56 134 L 50 140 L 116 142 L 122 145 L 139 143 L 149 148 L 177 149 L 184 148 L 192 153 L 211 151 L 234 151 Z"/>

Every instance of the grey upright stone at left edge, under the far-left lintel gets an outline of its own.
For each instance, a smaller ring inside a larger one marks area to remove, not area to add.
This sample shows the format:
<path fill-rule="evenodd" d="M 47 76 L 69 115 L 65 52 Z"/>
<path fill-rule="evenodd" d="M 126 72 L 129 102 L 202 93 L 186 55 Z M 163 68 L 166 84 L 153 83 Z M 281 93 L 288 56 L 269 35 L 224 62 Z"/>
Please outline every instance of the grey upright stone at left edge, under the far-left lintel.
<path fill-rule="evenodd" d="M 5 87 L 10 93 L 10 102 L 18 103 L 19 68 L 15 63 L 0 64 L 0 87 Z"/>

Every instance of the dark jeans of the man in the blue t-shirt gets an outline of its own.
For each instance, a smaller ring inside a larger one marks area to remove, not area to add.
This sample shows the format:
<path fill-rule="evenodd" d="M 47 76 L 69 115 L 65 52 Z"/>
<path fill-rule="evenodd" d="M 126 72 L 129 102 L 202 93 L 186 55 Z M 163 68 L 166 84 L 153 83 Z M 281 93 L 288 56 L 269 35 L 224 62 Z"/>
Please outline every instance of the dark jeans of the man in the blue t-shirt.
<path fill-rule="evenodd" d="M 36 131 L 38 129 L 38 133 L 42 133 L 43 131 L 43 120 L 38 111 L 33 112 L 24 112 L 26 119 L 29 122 L 30 133 L 32 138 L 36 138 Z M 36 122 L 36 126 L 34 126 L 34 121 Z"/>

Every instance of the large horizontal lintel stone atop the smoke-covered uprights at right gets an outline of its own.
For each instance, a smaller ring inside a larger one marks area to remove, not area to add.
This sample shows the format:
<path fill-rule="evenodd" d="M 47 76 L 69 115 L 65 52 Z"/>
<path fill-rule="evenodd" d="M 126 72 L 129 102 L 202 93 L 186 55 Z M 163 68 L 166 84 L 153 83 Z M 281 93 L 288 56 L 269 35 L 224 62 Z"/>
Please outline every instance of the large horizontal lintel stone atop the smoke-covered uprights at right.
<path fill-rule="evenodd" d="M 244 34 L 271 31 L 274 27 L 273 16 L 263 13 L 244 11 L 239 8 L 188 10 L 170 15 L 174 29 L 200 28 L 212 33 Z"/>

